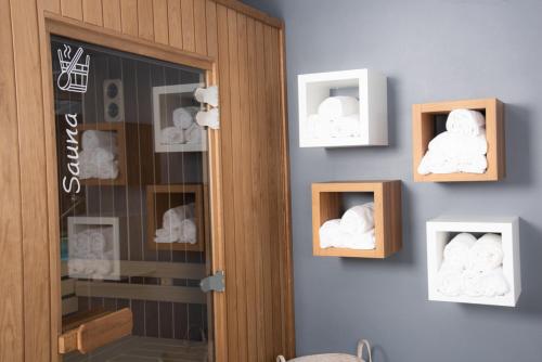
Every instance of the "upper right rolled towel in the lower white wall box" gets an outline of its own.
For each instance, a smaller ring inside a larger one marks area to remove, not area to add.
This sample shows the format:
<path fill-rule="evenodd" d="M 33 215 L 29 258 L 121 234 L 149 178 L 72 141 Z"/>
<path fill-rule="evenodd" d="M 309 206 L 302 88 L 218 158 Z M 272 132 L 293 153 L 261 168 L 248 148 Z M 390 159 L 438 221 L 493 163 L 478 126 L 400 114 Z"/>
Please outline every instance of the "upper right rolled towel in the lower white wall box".
<path fill-rule="evenodd" d="M 468 269 L 487 272 L 501 267 L 503 258 L 501 235 L 485 234 L 469 249 Z"/>

